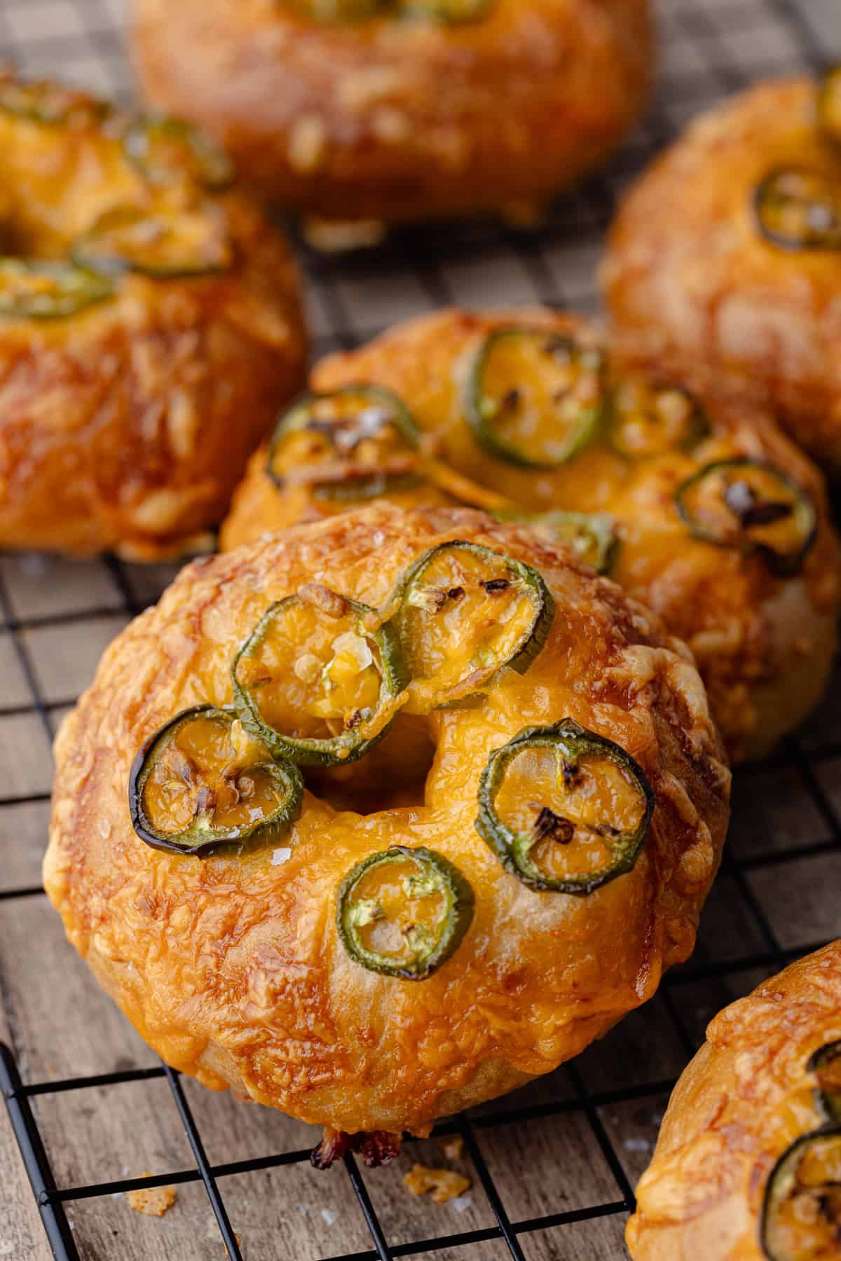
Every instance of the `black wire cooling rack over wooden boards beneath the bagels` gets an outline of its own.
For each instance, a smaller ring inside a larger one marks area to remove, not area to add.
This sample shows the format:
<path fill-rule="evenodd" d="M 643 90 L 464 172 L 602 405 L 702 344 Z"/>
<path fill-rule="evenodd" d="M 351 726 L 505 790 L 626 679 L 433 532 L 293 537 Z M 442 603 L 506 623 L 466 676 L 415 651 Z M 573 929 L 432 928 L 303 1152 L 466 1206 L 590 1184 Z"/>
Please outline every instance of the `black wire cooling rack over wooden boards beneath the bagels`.
<path fill-rule="evenodd" d="M 298 241 L 318 353 L 441 303 L 594 310 L 593 266 L 615 198 L 686 119 L 827 49 L 804 0 L 662 0 L 654 106 L 612 166 L 559 200 L 537 235 L 474 223 L 396 232 L 347 259 Z M 0 0 L 0 61 L 130 95 L 122 0 Z M 841 39 L 841 30 L 838 32 Z M 39 884 L 49 740 L 126 620 L 173 576 L 105 557 L 0 557 L 0 1256 L 62 1261 L 555 1261 L 624 1255 L 632 1184 L 668 1091 L 709 1018 L 841 933 L 841 672 L 817 715 L 735 783 L 731 836 L 691 962 L 574 1063 L 411 1141 L 463 1139 L 473 1190 L 414 1200 L 393 1166 L 309 1168 L 309 1127 L 202 1091 L 156 1061 L 66 946 Z M 15 1148 L 19 1150 L 15 1150 Z M 23 1168 L 40 1223 L 33 1227 Z M 149 1175 L 148 1170 L 153 1173 Z M 171 1185 L 151 1222 L 122 1193 Z M 29 1211 L 30 1212 L 30 1211 Z M 4 1216 L 5 1214 L 5 1216 Z"/>

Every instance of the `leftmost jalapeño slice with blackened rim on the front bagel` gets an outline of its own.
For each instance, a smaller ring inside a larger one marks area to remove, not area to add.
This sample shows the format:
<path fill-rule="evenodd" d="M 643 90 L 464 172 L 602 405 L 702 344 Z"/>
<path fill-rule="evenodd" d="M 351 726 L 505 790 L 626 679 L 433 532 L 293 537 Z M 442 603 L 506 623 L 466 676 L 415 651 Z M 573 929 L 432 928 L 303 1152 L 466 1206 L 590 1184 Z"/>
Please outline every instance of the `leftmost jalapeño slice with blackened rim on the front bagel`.
<path fill-rule="evenodd" d="M 301 811 L 304 782 L 274 760 L 232 710 L 197 705 L 144 744 L 129 777 L 137 836 L 156 850 L 207 856 L 281 836 Z"/>

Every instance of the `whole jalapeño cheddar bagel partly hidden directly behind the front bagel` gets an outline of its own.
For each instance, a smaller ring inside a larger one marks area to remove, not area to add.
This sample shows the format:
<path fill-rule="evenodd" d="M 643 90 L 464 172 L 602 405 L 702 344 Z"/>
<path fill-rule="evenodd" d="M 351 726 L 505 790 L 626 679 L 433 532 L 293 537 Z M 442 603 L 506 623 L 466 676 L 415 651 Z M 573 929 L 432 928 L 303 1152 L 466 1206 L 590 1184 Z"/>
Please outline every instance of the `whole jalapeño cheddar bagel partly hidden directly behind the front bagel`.
<path fill-rule="evenodd" d="M 690 644 L 738 758 L 826 682 L 838 552 L 817 470 L 767 416 L 610 358 L 580 318 L 444 311 L 325 359 L 252 458 L 222 545 L 381 494 L 570 541 Z"/>

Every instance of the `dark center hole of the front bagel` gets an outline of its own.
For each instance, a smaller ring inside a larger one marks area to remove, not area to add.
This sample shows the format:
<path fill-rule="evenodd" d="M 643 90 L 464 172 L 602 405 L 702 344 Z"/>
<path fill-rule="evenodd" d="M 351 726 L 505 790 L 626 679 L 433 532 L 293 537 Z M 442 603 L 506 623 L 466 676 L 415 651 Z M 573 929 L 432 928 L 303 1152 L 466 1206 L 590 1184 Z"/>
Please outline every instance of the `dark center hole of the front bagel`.
<path fill-rule="evenodd" d="M 386 736 L 349 767 L 304 767 L 311 793 L 333 810 L 376 815 L 422 806 L 435 741 L 429 720 L 398 714 Z"/>

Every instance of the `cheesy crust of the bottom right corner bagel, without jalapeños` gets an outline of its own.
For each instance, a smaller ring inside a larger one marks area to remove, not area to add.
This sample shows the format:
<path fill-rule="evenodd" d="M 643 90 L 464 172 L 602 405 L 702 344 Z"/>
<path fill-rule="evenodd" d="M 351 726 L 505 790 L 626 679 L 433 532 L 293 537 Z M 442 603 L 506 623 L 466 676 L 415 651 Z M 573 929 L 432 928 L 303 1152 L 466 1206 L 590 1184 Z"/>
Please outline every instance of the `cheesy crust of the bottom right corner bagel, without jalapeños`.
<path fill-rule="evenodd" d="M 719 1013 L 675 1087 L 628 1223 L 634 1261 L 762 1261 L 774 1163 L 816 1129 L 818 1047 L 841 1037 L 841 942 Z"/>

